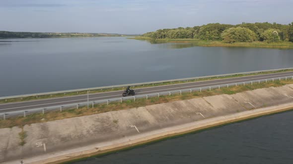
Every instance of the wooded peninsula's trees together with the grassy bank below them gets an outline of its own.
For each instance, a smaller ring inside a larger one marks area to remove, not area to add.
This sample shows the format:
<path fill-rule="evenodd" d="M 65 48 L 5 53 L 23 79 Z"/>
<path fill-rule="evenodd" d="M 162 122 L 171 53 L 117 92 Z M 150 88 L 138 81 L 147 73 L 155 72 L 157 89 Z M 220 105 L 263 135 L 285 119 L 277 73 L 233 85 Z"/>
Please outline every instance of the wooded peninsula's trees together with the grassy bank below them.
<path fill-rule="evenodd" d="M 293 48 L 293 23 L 213 23 L 192 28 L 160 29 L 135 39 L 167 42 L 175 39 L 177 42 L 193 42 L 199 46 L 237 46 L 239 44 L 234 43 L 240 43 L 244 47 Z"/>

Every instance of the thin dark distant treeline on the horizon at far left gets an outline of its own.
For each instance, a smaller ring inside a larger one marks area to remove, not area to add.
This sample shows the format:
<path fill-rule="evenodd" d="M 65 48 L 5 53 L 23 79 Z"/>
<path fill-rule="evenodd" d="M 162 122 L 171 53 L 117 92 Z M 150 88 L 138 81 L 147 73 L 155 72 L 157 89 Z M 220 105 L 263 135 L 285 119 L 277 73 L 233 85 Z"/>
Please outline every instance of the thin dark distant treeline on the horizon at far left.
<path fill-rule="evenodd" d="M 0 38 L 69 38 L 69 37 L 121 37 L 120 34 L 99 33 L 30 33 L 0 31 Z"/>

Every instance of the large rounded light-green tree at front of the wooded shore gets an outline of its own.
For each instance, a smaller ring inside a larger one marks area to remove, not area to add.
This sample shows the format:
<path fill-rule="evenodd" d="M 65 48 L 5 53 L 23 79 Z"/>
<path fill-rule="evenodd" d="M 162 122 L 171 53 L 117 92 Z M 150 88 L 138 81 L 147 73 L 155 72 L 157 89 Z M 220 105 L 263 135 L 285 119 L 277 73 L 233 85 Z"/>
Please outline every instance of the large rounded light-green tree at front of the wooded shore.
<path fill-rule="evenodd" d="M 256 34 L 244 27 L 229 28 L 221 34 L 224 42 L 252 42 L 256 40 Z"/>

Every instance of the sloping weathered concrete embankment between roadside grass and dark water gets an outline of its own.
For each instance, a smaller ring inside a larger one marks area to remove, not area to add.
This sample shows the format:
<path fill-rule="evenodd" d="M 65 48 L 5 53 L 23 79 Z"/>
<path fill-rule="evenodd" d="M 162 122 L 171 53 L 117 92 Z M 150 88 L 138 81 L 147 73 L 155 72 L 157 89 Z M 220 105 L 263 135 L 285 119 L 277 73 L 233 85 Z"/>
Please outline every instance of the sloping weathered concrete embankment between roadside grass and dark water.
<path fill-rule="evenodd" d="M 55 164 L 289 109 L 293 84 L 2 128 L 0 162 Z"/>

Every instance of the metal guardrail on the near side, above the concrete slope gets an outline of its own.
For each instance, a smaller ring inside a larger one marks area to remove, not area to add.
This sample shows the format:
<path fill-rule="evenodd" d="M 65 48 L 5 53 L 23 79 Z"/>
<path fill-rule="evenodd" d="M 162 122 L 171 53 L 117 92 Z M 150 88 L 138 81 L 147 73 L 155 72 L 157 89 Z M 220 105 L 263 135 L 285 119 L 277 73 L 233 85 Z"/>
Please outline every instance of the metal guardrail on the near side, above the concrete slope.
<path fill-rule="evenodd" d="M 159 92 L 159 93 L 150 93 L 150 94 L 144 94 L 144 95 L 137 95 L 137 96 L 130 96 L 130 97 L 121 97 L 121 98 L 112 98 L 112 99 L 105 99 L 105 100 L 96 100 L 96 101 L 89 101 L 89 102 L 82 102 L 82 103 L 74 103 L 74 104 L 67 104 L 67 105 L 59 105 L 59 106 L 52 106 L 52 107 L 45 107 L 45 108 L 36 108 L 36 109 L 29 109 L 29 110 L 22 110 L 22 111 L 14 111 L 14 112 L 6 112 L 6 113 L 0 113 L 0 118 L 3 118 L 4 120 L 7 117 L 12 116 L 20 116 L 23 115 L 23 117 L 26 117 L 28 114 L 33 113 L 45 113 L 47 111 L 56 111 L 60 110 L 61 112 L 65 109 L 78 109 L 79 107 L 84 106 L 91 106 L 94 107 L 95 104 L 107 104 L 111 102 L 123 102 L 125 100 L 134 100 L 141 98 L 150 98 L 150 97 L 160 97 L 163 95 L 172 95 L 172 94 L 182 94 L 186 92 L 194 92 L 194 91 L 203 91 L 203 90 L 211 90 L 211 89 L 220 89 L 221 87 L 229 87 L 229 86 L 238 86 L 238 85 L 245 85 L 245 84 L 253 84 L 253 83 L 261 83 L 261 82 L 274 82 L 275 80 L 293 80 L 293 76 L 287 76 L 287 77 L 281 77 L 281 78 L 270 78 L 270 79 L 263 79 L 263 80 L 256 80 L 256 81 L 248 81 L 248 82 L 236 82 L 236 83 L 229 83 L 229 84 L 221 84 L 221 85 L 213 85 L 213 86 L 205 86 L 205 87 L 197 87 L 197 88 L 191 88 L 191 89 L 183 89 L 183 90 L 174 90 L 174 91 L 166 91 L 166 92 Z"/>

